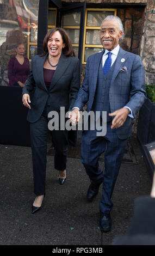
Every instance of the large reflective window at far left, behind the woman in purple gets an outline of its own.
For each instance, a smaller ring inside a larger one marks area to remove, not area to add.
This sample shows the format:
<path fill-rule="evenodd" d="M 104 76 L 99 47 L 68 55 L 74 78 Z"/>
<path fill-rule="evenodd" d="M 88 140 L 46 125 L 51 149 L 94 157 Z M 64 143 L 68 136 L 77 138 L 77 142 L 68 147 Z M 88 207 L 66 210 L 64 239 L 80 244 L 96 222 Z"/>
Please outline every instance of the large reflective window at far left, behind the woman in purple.
<path fill-rule="evenodd" d="M 38 10 L 39 0 L 0 1 L 0 82 L 2 86 L 15 84 L 9 81 L 8 63 L 17 54 L 17 44 L 24 45 L 24 57 L 31 59 L 36 54 Z M 12 77 L 13 80 L 14 77 Z"/>

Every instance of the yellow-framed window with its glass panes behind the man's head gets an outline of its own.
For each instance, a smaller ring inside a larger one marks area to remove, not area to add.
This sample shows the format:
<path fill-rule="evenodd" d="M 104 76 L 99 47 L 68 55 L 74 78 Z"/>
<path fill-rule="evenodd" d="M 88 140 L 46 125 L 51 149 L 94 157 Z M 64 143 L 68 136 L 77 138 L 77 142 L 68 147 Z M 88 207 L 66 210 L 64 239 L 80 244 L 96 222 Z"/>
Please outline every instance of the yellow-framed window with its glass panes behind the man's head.
<path fill-rule="evenodd" d="M 86 64 L 86 60 L 90 55 L 103 50 L 100 42 L 100 26 L 104 18 L 108 15 L 116 15 L 116 9 L 86 9 L 82 58 L 83 64 Z"/>

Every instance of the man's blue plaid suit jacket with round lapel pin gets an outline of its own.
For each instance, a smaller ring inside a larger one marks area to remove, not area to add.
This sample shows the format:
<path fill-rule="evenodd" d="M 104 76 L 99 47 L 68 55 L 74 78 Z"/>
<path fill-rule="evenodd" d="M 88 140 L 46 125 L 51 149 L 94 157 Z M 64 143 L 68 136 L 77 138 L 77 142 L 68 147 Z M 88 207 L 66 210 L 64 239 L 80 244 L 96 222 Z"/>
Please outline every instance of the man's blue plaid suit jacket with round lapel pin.
<path fill-rule="evenodd" d="M 88 58 L 84 81 L 73 107 L 78 107 L 81 110 L 88 102 L 86 111 L 91 111 L 103 52 L 93 54 Z M 132 109 L 135 117 L 146 99 L 145 76 L 141 59 L 137 54 L 124 51 L 120 47 L 115 62 L 114 73 L 111 81 L 109 81 L 110 111 L 112 113 L 117 109 L 128 106 Z M 125 123 L 116 130 L 120 139 L 126 139 L 131 135 L 131 124 L 132 119 L 127 117 Z"/>

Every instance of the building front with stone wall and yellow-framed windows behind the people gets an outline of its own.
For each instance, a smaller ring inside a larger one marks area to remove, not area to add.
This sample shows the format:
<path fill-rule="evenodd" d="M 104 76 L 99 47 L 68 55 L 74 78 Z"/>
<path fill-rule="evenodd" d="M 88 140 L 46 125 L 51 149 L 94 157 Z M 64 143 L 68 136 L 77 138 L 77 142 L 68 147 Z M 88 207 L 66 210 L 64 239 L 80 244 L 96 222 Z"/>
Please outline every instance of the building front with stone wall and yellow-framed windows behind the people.
<path fill-rule="evenodd" d="M 56 26 L 69 33 L 84 75 L 88 56 L 103 50 L 100 25 L 111 14 L 120 17 L 125 29 L 121 47 L 140 55 L 146 84 L 155 84 L 154 0 L 0 0 L 0 13 L 1 86 L 8 86 L 8 62 L 16 54 L 16 44 L 26 45 L 26 56 L 31 61 L 41 52 L 47 29 Z"/>

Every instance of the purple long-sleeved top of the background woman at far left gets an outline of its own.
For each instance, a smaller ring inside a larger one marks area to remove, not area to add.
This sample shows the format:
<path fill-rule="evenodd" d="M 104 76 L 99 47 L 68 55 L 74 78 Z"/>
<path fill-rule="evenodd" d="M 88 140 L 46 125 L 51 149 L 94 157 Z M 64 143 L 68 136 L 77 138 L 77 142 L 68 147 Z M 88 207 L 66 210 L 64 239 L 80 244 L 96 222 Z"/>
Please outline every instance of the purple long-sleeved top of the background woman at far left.
<path fill-rule="evenodd" d="M 8 78 L 9 86 L 14 86 L 18 81 L 25 83 L 30 74 L 29 60 L 24 57 L 24 62 L 21 65 L 14 56 L 9 60 L 8 64 Z"/>

